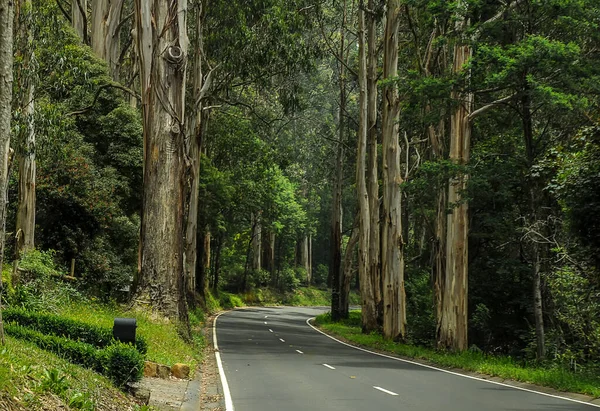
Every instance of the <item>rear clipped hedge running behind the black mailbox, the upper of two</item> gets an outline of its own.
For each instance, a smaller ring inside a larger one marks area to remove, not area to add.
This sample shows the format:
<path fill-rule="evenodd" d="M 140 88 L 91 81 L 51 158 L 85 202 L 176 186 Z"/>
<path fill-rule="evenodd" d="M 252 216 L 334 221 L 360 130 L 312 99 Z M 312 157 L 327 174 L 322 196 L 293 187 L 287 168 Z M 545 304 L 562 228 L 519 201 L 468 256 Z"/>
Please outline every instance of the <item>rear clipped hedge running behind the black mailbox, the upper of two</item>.
<path fill-rule="evenodd" d="M 21 309 L 7 309 L 2 315 L 6 322 L 13 322 L 43 334 L 84 342 L 98 348 L 108 347 L 115 342 L 111 329 L 69 318 Z M 148 352 L 148 343 L 144 338 L 136 336 L 135 348 L 145 355 Z"/>

